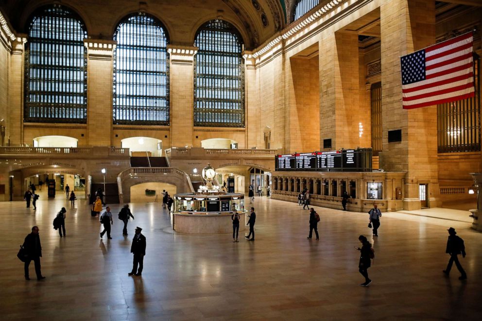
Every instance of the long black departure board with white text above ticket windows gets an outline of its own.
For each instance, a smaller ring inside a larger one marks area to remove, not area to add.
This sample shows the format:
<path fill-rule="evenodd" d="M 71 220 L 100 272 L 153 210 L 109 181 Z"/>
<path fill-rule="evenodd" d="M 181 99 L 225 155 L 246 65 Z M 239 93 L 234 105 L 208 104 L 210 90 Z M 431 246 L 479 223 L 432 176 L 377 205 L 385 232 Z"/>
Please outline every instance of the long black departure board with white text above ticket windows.
<path fill-rule="evenodd" d="M 357 148 L 277 155 L 275 157 L 275 170 L 371 171 L 372 149 Z"/>

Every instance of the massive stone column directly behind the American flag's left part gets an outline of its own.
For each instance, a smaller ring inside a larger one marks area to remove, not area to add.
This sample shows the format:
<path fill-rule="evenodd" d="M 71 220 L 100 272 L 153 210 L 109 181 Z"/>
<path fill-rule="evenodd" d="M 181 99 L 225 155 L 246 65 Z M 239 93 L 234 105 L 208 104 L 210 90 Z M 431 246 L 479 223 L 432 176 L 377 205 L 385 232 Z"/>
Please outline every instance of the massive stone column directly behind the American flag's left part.
<path fill-rule="evenodd" d="M 435 2 L 387 0 L 380 6 L 383 145 L 380 168 L 404 171 L 403 209 L 420 209 L 418 182 L 429 182 L 429 206 L 438 205 L 437 106 L 402 108 L 400 56 L 435 43 Z M 402 141 L 388 143 L 388 131 Z"/>

